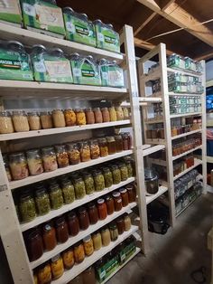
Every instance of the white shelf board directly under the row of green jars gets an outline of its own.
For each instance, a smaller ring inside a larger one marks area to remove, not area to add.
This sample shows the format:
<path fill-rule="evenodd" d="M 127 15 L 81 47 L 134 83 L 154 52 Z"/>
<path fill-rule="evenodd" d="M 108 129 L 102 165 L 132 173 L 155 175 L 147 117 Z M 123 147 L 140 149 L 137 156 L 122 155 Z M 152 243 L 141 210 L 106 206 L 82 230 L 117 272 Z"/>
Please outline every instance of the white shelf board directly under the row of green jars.
<path fill-rule="evenodd" d="M 27 231 L 35 226 L 38 226 L 42 222 L 47 222 L 57 216 L 60 216 L 61 214 L 67 213 L 75 208 L 78 208 L 79 206 L 82 206 L 84 204 L 88 204 L 89 202 L 99 198 L 100 196 L 103 196 L 105 194 L 111 193 L 117 188 L 123 187 L 125 185 L 128 185 L 130 183 L 133 183 L 135 180 L 134 177 L 128 178 L 126 181 L 119 183 L 118 185 L 112 185 L 109 188 L 106 188 L 100 192 L 95 192 L 94 194 L 87 194 L 82 199 L 75 200 L 72 204 L 64 204 L 60 209 L 57 210 L 51 210 L 50 213 L 47 213 L 43 216 L 38 216 L 31 222 L 24 222 L 20 224 L 22 232 Z"/>

